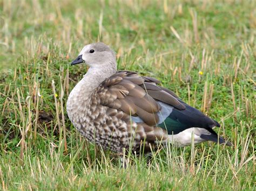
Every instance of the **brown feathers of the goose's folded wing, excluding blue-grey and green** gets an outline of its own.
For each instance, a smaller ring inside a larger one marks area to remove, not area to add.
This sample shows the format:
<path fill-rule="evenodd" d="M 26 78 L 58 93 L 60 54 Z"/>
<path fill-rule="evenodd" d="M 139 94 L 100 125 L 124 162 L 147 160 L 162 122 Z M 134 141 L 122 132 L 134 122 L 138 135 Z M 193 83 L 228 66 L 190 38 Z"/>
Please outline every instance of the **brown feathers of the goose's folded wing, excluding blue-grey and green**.
<path fill-rule="evenodd" d="M 123 111 L 129 116 L 138 116 L 147 125 L 156 126 L 159 122 L 157 112 L 161 109 L 157 101 L 180 110 L 185 109 L 185 105 L 179 102 L 171 90 L 157 86 L 158 83 L 160 82 L 152 77 L 120 71 L 102 83 L 104 88 L 99 88 L 98 95 L 103 105 Z M 111 111 L 110 115 L 113 114 L 114 111 Z"/>

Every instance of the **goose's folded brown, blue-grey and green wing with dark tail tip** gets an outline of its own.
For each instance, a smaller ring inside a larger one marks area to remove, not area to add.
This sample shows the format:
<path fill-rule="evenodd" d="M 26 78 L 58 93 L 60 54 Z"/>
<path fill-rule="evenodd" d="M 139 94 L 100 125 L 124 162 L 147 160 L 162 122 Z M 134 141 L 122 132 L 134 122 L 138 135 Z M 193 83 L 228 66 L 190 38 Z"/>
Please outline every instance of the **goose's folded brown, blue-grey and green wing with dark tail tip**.
<path fill-rule="evenodd" d="M 137 124 L 161 128 L 168 135 L 197 128 L 198 136 L 202 139 L 225 143 L 212 130 L 214 126 L 220 126 L 218 122 L 190 107 L 159 83 L 152 77 L 139 76 L 136 72 L 118 71 L 106 79 L 97 91 L 101 104 L 123 111 Z"/>

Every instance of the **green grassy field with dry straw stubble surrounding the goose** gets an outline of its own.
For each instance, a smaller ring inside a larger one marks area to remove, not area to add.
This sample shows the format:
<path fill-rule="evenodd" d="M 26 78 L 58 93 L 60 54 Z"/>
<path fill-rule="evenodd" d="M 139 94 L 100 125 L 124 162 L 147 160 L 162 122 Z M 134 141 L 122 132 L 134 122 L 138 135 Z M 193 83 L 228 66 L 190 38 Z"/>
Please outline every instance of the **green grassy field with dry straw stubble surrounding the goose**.
<path fill-rule="evenodd" d="M 254 190 L 256 2 L 224 2 L 0 0 L 0 190 Z M 99 40 L 234 146 L 159 149 L 150 164 L 131 154 L 122 168 L 86 142 L 65 111 L 86 68 L 69 63 Z"/>

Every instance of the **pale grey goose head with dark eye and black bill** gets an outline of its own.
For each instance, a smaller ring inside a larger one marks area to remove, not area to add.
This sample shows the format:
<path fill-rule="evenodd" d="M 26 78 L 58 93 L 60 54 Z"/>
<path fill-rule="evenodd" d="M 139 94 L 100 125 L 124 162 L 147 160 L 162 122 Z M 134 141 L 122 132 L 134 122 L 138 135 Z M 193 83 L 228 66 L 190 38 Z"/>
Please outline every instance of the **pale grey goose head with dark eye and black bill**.
<path fill-rule="evenodd" d="M 116 54 L 104 43 L 93 43 L 83 47 L 71 65 L 85 63 L 90 68 L 111 67 L 116 70 Z"/>

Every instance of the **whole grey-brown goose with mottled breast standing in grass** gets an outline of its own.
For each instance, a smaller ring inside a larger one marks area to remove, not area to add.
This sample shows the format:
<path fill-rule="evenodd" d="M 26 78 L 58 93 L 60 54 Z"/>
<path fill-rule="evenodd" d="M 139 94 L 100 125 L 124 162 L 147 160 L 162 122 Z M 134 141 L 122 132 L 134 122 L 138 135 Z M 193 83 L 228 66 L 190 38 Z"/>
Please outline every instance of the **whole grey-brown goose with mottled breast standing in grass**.
<path fill-rule="evenodd" d="M 85 63 L 87 73 L 72 89 L 66 110 L 82 135 L 122 154 L 150 152 L 159 143 L 180 147 L 212 141 L 231 146 L 213 127 L 220 124 L 183 102 L 153 77 L 117 71 L 116 54 L 104 43 L 83 47 L 71 65 Z M 143 144 L 143 146 L 142 146 Z"/>

